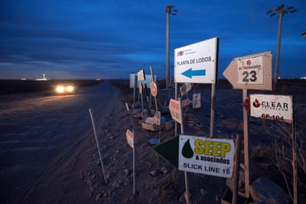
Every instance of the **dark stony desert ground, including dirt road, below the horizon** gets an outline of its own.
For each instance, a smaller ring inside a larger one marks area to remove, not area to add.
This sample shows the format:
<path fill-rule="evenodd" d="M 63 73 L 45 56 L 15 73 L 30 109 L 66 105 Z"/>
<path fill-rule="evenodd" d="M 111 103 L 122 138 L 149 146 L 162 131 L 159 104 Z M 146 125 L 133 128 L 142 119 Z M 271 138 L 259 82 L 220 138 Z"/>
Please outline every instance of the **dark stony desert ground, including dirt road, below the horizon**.
<path fill-rule="evenodd" d="M 160 82 L 160 87 L 164 84 Z M 210 131 L 209 84 L 193 87 L 183 98 L 201 93 L 201 108 L 183 110 L 186 135 L 208 136 Z M 271 91 L 249 93 L 274 94 Z M 128 80 L 109 80 L 79 87 L 76 95 L 53 95 L 50 91 L 6 92 L 0 95 L 0 203 L 184 203 L 184 172 L 177 170 L 154 150 L 149 140 L 161 142 L 175 131 L 144 130 L 131 110 L 141 109 Z M 299 144 L 305 145 L 306 82 L 286 80 L 275 94 L 294 95 L 294 116 Z M 167 121 L 168 100 L 174 90 L 160 89 L 159 109 Z M 149 107 L 144 100 L 144 106 Z M 93 109 L 103 157 L 98 148 L 88 109 Z M 154 101 L 152 105 L 154 109 Z M 243 135 L 242 91 L 220 82 L 215 93 L 214 137 Z M 285 192 L 285 179 L 276 162 L 278 141 L 287 137 L 286 124 L 249 117 L 252 180 L 268 177 Z M 133 151 L 127 144 L 127 129 L 135 128 L 135 195 L 133 195 Z M 283 130 L 283 131 L 281 131 Z M 285 136 L 284 136 L 285 135 Z M 305 146 L 304 146 L 305 149 Z M 301 154 L 300 161 L 305 159 Z M 287 155 L 289 158 L 291 155 Z M 290 163 L 291 161 L 289 161 Z M 287 162 L 288 163 L 288 162 Z M 283 163 L 287 167 L 288 164 Z M 303 165 L 302 165 L 303 166 Z M 290 166 L 289 166 L 290 168 Z M 305 166 L 304 166 L 305 168 Z M 289 183 L 292 174 L 286 172 Z M 300 203 L 305 201 L 305 171 L 298 169 Z M 221 203 L 226 179 L 188 173 L 191 203 Z"/>

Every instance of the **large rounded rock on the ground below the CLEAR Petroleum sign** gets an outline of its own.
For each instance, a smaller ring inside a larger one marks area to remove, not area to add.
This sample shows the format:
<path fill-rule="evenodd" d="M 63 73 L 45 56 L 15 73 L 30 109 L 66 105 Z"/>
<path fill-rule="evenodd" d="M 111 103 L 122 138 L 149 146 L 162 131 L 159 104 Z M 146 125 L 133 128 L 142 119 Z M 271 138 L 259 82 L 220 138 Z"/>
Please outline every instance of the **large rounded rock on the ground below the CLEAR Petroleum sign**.
<path fill-rule="evenodd" d="M 260 177 L 250 185 L 250 195 L 255 202 L 289 204 L 290 196 L 267 177 Z"/>

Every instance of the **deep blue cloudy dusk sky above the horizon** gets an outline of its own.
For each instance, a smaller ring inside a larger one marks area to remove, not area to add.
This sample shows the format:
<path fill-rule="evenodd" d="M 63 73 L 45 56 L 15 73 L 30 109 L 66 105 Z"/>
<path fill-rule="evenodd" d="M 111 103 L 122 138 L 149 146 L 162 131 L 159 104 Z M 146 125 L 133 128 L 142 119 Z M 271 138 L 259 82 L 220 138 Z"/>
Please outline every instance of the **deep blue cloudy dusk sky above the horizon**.
<path fill-rule="evenodd" d="M 283 16 L 279 76 L 306 77 L 306 1 L 1 0 L 0 79 L 111 79 L 150 66 L 166 78 L 166 5 L 170 16 L 170 76 L 174 49 L 219 37 L 218 76 L 232 58 L 272 51 Z"/>

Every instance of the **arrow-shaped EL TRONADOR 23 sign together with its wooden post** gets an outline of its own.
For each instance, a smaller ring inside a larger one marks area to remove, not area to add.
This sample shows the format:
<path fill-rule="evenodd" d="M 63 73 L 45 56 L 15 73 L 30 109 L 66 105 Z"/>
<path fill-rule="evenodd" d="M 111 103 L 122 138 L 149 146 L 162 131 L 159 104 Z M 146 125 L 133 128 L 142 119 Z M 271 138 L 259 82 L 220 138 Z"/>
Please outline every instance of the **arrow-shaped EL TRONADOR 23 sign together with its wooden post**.
<path fill-rule="evenodd" d="M 248 98 L 248 89 L 272 90 L 272 52 L 262 52 L 237 57 L 226 67 L 223 76 L 234 89 L 242 89 L 243 102 Z M 250 152 L 248 142 L 248 112 L 243 109 L 243 146 L 245 197 L 250 197 Z"/>

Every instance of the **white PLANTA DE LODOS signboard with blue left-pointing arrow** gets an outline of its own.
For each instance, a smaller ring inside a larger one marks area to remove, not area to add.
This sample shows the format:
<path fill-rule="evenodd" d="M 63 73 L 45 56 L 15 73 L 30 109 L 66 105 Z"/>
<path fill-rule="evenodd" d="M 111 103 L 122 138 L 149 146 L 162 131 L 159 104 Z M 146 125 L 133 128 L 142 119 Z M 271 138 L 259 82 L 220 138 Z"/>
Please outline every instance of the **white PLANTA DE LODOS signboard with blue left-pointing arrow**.
<path fill-rule="evenodd" d="M 215 83 L 218 39 L 211 38 L 175 49 L 175 82 Z"/>

